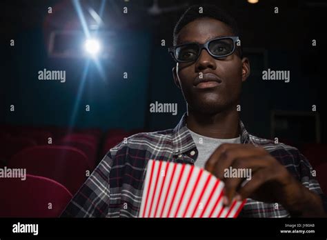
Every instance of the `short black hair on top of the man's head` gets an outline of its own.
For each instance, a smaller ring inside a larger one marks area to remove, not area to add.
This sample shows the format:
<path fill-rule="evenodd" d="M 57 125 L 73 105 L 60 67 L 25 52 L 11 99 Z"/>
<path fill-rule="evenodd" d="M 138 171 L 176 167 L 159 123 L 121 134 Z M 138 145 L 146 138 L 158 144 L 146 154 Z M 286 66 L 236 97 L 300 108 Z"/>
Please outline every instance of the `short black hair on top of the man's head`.
<path fill-rule="evenodd" d="M 199 12 L 200 8 L 202 8 L 203 12 Z M 193 5 L 190 6 L 184 14 L 181 15 L 179 20 L 177 21 L 174 32 L 172 34 L 173 39 L 173 45 L 177 45 L 177 38 L 178 34 L 181 31 L 184 26 L 186 26 L 191 21 L 195 21 L 196 19 L 200 19 L 203 17 L 208 17 L 212 19 L 217 19 L 223 23 L 225 23 L 230 30 L 232 31 L 232 34 L 239 37 L 239 27 L 237 26 L 237 21 L 228 13 L 226 10 L 223 10 L 222 8 L 218 8 L 215 5 L 212 4 L 204 4 L 204 5 Z M 242 57 L 242 49 L 241 46 L 237 48 L 236 52 L 239 54 L 239 57 Z"/>

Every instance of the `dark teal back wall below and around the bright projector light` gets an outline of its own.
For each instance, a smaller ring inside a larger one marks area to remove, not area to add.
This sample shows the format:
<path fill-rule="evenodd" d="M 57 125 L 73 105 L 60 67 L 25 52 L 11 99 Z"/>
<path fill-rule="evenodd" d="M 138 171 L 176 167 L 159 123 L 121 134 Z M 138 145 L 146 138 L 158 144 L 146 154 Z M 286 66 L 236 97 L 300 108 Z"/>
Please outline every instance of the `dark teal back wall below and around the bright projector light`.
<path fill-rule="evenodd" d="M 77 127 L 103 129 L 143 128 L 148 99 L 150 39 L 150 33 L 144 31 L 120 33 L 111 43 L 116 49 L 112 56 L 115 59 L 100 59 L 106 80 L 90 61 L 83 83 L 88 60 L 50 58 L 40 29 L 21 32 L 16 46 L 4 49 L 8 58 L 1 60 L 4 67 L 1 79 L 1 94 L 5 96 L 1 104 L 4 121 L 36 126 L 68 126 L 72 123 Z M 66 82 L 40 81 L 38 72 L 43 68 L 66 70 Z M 128 72 L 128 79 L 123 79 L 123 72 Z M 14 112 L 9 112 L 11 104 L 14 104 Z M 87 104 L 90 112 L 86 112 Z"/>

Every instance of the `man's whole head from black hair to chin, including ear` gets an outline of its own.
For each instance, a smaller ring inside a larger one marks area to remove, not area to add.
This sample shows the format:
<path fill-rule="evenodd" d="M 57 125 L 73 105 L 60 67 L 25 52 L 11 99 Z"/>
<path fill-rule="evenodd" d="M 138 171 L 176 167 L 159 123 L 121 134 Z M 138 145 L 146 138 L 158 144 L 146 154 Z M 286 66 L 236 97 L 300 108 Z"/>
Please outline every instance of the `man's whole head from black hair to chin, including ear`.
<path fill-rule="evenodd" d="M 218 37 L 239 37 L 239 30 L 235 20 L 216 6 L 191 6 L 177 22 L 173 37 L 174 46 L 194 42 L 204 44 Z M 209 45 L 208 48 L 213 47 Z M 218 48 L 216 52 L 226 51 L 225 46 L 218 45 Z M 197 59 L 177 62 L 172 69 L 188 109 L 202 114 L 234 108 L 239 102 L 241 83 L 250 74 L 248 59 L 242 57 L 241 48 L 236 43 L 235 51 L 227 57 L 212 57 L 214 51 L 212 49 L 210 53 L 202 49 Z M 196 52 L 184 54 L 194 57 Z"/>

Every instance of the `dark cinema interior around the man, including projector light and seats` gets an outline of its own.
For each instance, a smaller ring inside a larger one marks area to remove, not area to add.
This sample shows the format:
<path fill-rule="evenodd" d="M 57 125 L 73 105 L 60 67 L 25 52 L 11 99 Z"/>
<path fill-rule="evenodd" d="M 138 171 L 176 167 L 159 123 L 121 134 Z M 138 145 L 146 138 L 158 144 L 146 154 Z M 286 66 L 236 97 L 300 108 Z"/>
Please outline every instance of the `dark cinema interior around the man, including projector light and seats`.
<path fill-rule="evenodd" d="M 117 144 L 177 126 L 188 109 L 168 48 L 195 4 L 237 21 L 246 130 L 297 148 L 327 194 L 326 1 L 5 0 L 0 217 L 61 217 Z"/>

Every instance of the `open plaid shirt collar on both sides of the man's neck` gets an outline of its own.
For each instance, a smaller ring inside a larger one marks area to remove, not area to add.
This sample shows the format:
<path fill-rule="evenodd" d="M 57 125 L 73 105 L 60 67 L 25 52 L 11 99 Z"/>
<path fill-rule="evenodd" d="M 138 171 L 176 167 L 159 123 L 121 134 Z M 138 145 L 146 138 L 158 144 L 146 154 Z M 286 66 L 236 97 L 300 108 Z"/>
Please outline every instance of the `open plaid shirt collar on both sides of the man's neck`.
<path fill-rule="evenodd" d="M 190 131 L 186 127 L 187 112 L 183 114 L 181 120 L 173 130 L 172 146 L 174 154 L 181 154 L 196 149 L 195 142 L 193 141 Z M 241 129 L 241 143 L 252 143 L 250 134 L 246 130 L 244 123 L 240 120 L 239 127 Z"/>

